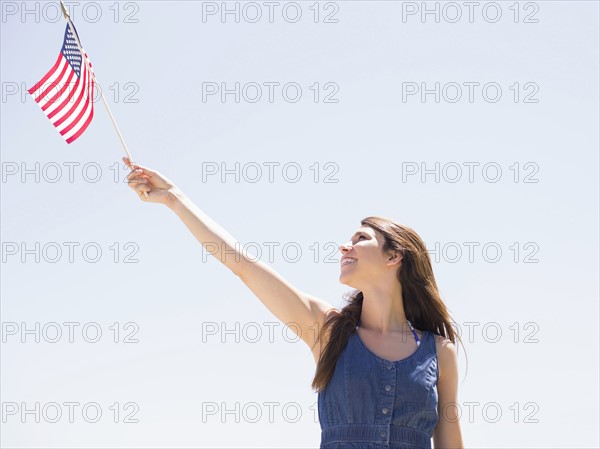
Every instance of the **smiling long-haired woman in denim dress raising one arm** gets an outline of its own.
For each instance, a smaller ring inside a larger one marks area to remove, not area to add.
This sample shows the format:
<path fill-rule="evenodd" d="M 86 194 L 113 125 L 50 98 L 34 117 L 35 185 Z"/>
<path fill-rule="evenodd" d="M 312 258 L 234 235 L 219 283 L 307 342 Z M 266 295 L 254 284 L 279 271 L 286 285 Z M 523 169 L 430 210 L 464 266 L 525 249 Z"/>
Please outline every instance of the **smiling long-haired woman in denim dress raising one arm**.
<path fill-rule="evenodd" d="M 355 291 L 338 310 L 236 252 L 236 240 L 171 181 L 123 160 L 142 201 L 168 206 L 279 320 L 296 324 L 317 364 L 321 449 L 430 449 L 431 438 L 435 449 L 463 448 L 458 336 L 414 230 L 385 217 L 361 221 L 340 247 L 339 280 Z"/>

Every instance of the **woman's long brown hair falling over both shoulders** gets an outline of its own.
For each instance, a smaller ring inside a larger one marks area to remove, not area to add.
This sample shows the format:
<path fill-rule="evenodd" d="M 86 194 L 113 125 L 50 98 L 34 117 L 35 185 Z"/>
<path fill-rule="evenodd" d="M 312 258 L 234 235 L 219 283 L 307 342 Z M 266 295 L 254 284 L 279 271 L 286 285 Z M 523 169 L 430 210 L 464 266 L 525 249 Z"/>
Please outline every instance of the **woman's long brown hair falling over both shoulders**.
<path fill-rule="evenodd" d="M 415 329 L 441 335 L 454 344 L 458 338 L 462 344 L 462 339 L 451 326 L 450 314 L 438 292 L 427 248 L 415 230 L 382 216 L 367 217 L 360 224 L 371 227 L 384 237 L 384 253 L 396 252 L 403 256 L 397 278 L 402 285 L 402 304 L 406 319 Z M 317 342 L 322 341 L 328 330 L 330 333 L 325 348 L 321 348 L 312 381 L 312 388 L 317 392 L 322 391 L 329 383 L 340 353 L 350 335 L 356 332 L 363 293 L 354 290 L 345 294 L 344 299 L 348 301 L 348 305 L 340 313 L 329 314 L 319 331 Z"/>

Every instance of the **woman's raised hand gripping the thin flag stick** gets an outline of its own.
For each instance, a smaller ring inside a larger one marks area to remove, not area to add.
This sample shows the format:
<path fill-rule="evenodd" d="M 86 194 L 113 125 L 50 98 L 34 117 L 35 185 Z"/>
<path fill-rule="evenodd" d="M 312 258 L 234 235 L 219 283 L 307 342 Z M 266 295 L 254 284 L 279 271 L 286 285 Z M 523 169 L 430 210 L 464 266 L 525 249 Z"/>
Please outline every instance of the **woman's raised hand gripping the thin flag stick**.
<path fill-rule="evenodd" d="M 123 157 L 123 162 L 131 168 L 127 183 L 142 201 L 168 205 L 174 199 L 177 187 L 159 172 L 132 163 L 126 156 Z"/>

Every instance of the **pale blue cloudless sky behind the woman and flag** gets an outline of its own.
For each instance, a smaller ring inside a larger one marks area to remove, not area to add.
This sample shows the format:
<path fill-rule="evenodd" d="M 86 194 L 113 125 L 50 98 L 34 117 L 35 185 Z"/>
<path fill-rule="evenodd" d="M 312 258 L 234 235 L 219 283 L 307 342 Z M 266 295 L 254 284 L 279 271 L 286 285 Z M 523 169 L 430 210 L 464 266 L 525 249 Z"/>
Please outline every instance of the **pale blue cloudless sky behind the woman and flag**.
<path fill-rule="evenodd" d="M 269 242 L 278 245 L 269 264 L 301 290 L 344 305 L 350 288 L 338 281 L 336 245 L 369 215 L 397 219 L 439 249 L 434 272 L 450 313 L 478 324 L 472 341 L 463 332 L 466 379 L 459 346 L 466 447 L 598 447 L 599 9 L 594 1 L 526 3 L 515 22 L 513 2 L 499 2 L 495 23 L 489 5 L 472 22 L 463 6 L 451 23 L 456 11 L 438 3 L 436 23 L 409 14 L 412 2 L 362 1 L 281 2 L 272 23 L 262 2 L 256 23 L 257 9 L 243 2 L 239 23 L 208 15 L 221 2 L 192 1 L 79 2 L 73 18 L 137 162 L 161 171 L 241 242 L 255 242 L 251 252 L 259 247 L 265 259 Z M 23 5 L 32 12 L 23 15 Z M 0 444 L 318 447 L 309 349 L 286 341 L 276 317 L 171 211 L 114 181 L 127 174 L 124 151 L 100 101 L 86 133 L 67 145 L 28 98 L 25 89 L 57 57 L 64 26 L 56 3 L 2 2 Z M 471 82 L 479 83 L 473 102 Z M 233 95 L 203 102 L 203 89 L 221 83 L 240 83 L 239 103 Z M 265 83 L 279 83 L 273 102 Z M 284 97 L 286 83 L 302 90 L 297 102 Z M 444 96 L 402 101 L 403 90 L 422 83 L 440 83 Z M 484 98 L 487 83 L 490 96 L 500 87 L 498 101 Z M 263 95 L 252 102 L 256 85 Z M 456 85 L 463 96 L 453 102 Z M 208 174 L 221 164 L 235 172 L 236 162 L 239 182 Z M 422 163 L 439 163 L 439 182 L 434 174 L 421 181 Z M 57 167 L 62 177 L 51 182 Z M 256 167 L 262 177 L 251 182 Z M 456 167 L 462 177 L 450 182 Z M 498 167 L 498 181 L 489 181 Z M 31 171 L 24 181 L 23 169 Z M 79 245 L 72 263 L 68 242 Z M 22 244 L 32 249 L 25 262 Z M 137 262 L 124 263 L 128 255 Z M 47 333 L 22 343 L 21 323 L 36 322 Z M 64 332 L 54 344 L 52 322 Z M 80 323 L 73 343 L 65 322 Z M 86 323 L 101 328 L 97 343 L 82 337 Z M 245 331 L 223 343 L 206 335 L 211 323 Z M 256 328 L 262 338 L 253 343 Z M 123 343 L 131 333 L 139 341 Z M 8 413 L 10 403 L 41 410 L 69 401 L 99 403 L 102 419 L 86 422 L 79 408 L 70 423 L 65 406 L 55 424 L 50 408 L 40 423 Z M 134 411 L 126 403 L 139 407 L 138 423 L 123 422 Z M 207 415 L 213 403 L 219 413 L 238 403 L 240 422 Z M 277 404 L 272 422 L 268 403 Z M 471 418 L 469 403 L 478 404 Z"/>

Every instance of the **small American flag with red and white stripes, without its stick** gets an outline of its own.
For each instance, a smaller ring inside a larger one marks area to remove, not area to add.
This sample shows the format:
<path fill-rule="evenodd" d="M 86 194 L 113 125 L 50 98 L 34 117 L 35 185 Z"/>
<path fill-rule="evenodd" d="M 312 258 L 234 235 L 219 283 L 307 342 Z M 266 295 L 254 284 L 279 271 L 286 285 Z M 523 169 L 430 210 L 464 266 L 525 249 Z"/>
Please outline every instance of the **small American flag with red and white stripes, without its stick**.
<path fill-rule="evenodd" d="M 67 23 L 54 66 L 27 90 L 67 143 L 81 136 L 94 117 L 94 72 L 87 54 L 85 58 L 89 71 Z"/>

